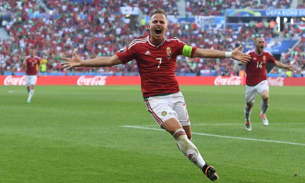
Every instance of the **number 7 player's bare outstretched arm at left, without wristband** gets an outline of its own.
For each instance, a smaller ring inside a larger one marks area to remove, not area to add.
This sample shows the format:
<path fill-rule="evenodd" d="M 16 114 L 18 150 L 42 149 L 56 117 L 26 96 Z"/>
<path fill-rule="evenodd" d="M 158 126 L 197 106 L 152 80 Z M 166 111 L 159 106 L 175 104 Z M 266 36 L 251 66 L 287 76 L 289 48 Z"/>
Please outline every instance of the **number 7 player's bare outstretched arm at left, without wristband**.
<path fill-rule="evenodd" d="M 99 67 L 99 66 L 113 66 L 122 63 L 120 59 L 116 56 L 102 56 L 92 59 L 80 59 L 76 54 L 76 50 L 73 51 L 72 58 L 62 57 L 61 59 L 67 60 L 66 62 L 60 63 L 62 68 L 71 68 L 77 66 L 89 66 L 89 67 Z"/>

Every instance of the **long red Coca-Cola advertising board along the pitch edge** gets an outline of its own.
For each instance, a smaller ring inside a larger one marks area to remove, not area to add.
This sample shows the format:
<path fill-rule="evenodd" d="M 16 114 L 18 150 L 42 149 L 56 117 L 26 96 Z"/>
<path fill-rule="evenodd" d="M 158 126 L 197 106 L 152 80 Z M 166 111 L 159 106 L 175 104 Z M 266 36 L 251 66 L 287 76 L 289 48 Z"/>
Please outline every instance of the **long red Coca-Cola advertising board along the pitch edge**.
<path fill-rule="evenodd" d="M 268 77 L 272 86 L 305 86 L 304 77 Z M 180 85 L 245 85 L 244 76 L 177 76 Z M 139 76 L 45 76 L 37 85 L 140 85 Z M 0 85 L 25 85 L 25 76 L 0 76 Z"/>

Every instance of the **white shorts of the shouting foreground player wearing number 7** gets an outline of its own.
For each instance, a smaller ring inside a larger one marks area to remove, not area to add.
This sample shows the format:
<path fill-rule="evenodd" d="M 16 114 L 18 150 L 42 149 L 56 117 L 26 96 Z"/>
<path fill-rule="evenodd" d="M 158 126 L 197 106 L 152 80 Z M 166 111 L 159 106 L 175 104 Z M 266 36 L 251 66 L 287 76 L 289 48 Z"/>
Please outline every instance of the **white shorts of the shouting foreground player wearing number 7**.
<path fill-rule="evenodd" d="M 186 103 L 180 91 L 165 96 L 150 96 L 144 102 L 159 126 L 172 117 L 178 119 L 182 126 L 190 124 Z"/>

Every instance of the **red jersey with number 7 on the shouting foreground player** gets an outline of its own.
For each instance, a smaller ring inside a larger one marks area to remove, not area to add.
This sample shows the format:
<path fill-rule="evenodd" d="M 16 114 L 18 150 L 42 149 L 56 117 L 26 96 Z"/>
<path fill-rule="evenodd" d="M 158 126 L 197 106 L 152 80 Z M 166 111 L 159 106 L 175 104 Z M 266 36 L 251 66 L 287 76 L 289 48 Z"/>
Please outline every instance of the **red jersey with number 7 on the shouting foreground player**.
<path fill-rule="evenodd" d="M 116 52 L 124 64 L 136 60 L 141 77 L 143 97 L 178 92 L 179 85 L 175 77 L 177 55 L 182 54 L 184 42 L 177 37 L 164 37 L 164 41 L 155 46 L 149 41 L 149 35 L 138 37 Z M 190 57 L 196 47 L 192 47 Z"/>

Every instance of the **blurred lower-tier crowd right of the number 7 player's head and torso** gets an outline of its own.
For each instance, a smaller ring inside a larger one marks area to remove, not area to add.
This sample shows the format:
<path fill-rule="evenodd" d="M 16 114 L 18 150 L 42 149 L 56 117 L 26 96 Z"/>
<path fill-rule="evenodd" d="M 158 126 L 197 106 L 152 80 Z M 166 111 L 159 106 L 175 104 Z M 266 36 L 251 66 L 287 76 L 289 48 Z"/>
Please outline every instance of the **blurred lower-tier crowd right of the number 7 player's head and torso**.
<path fill-rule="evenodd" d="M 182 41 L 203 48 L 214 48 L 219 50 L 232 50 L 238 45 L 246 45 L 254 40 L 256 36 L 264 38 L 299 38 L 301 41 L 292 51 L 283 53 L 285 55 L 280 61 L 284 63 L 298 62 L 298 65 L 305 64 L 305 33 L 297 28 L 297 25 L 287 25 L 284 30 L 277 32 L 276 27 L 270 26 L 268 22 L 250 22 L 239 26 L 227 25 L 223 30 L 221 26 L 208 26 L 205 30 L 197 28 L 195 24 L 173 24 L 169 28 L 170 34 L 179 37 Z M 261 24 L 263 26 L 261 26 Z M 177 59 L 176 71 L 179 74 L 196 73 L 200 75 L 213 73 L 214 75 L 239 75 L 239 71 L 233 70 L 234 60 L 232 59 L 202 59 L 185 58 L 180 56 Z M 243 72 L 244 73 L 244 72 Z"/>

